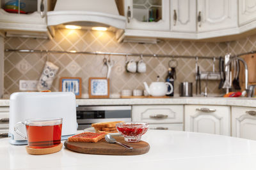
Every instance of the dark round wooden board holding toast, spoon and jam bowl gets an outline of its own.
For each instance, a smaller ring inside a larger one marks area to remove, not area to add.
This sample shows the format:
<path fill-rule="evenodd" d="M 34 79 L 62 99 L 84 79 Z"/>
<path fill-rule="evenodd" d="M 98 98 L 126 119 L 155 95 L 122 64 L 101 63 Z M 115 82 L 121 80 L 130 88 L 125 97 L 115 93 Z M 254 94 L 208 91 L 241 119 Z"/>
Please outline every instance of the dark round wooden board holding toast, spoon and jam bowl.
<path fill-rule="evenodd" d="M 116 141 L 131 146 L 133 149 L 129 150 L 117 143 L 107 143 L 105 139 L 98 141 L 97 143 L 84 143 L 84 142 L 68 142 L 65 141 L 64 146 L 68 150 L 79 153 L 98 154 L 98 155 L 141 155 L 147 153 L 150 146 L 145 141 L 138 143 L 129 143 L 124 141 L 122 136 L 113 136 Z"/>

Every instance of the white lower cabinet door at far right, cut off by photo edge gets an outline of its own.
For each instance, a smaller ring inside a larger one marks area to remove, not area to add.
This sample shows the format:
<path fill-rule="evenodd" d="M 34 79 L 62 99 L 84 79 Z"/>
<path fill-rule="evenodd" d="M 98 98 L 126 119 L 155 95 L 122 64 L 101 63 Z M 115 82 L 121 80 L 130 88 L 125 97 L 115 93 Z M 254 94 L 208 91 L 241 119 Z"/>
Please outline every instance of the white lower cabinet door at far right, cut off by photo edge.
<path fill-rule="evenodd" d="M 256 140 L 256 108 L 232 106 L 232 136 Z"/>

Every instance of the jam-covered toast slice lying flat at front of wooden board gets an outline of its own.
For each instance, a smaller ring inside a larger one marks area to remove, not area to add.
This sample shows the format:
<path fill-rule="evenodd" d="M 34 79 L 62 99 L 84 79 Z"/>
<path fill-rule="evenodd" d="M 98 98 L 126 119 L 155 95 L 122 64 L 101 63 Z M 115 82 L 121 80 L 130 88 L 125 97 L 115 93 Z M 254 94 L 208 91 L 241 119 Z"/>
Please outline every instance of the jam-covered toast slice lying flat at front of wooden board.
<path fill-rule="evenodd" d="M 68 138 L 70 142 L 97 142 L 105 137 L 106 132 L 83 132 L 81 134 L 76 134 Z"/>

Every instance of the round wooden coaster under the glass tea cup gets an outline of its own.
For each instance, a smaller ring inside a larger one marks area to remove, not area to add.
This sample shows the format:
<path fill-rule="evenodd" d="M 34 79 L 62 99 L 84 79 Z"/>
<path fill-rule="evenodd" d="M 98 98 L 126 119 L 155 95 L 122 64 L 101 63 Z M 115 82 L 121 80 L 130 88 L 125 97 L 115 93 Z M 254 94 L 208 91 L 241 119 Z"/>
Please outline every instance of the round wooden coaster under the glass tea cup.
<path fill-rule="evenodd" d="M 46 155 L 59 152 L 62 149 L 62 146 L 62 143 L 51 148 L 29 148 L 29 146 L 26 146 L 26 150 L 31 155 Z"/>

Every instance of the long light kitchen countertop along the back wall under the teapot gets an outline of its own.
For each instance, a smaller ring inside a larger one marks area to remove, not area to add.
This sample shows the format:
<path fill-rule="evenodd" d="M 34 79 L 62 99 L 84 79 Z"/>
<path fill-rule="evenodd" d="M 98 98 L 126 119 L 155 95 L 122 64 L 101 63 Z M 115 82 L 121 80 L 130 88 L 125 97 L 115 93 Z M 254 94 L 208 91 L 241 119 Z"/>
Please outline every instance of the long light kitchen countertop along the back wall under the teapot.
<path fill-rule="evenodd" d="M 153 104 L 205 104 L 223 106 L 255 107 L 256 98 L 248 97 L 172 97 L 170 99 L 77 99 L 77 104 L 82 105 L 153 105 Z M 9 106 L 8 99 L 0 99 L 0 106 Z"/>

